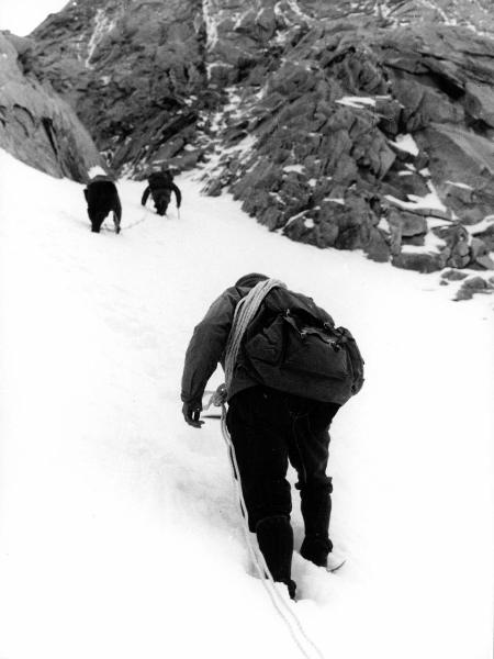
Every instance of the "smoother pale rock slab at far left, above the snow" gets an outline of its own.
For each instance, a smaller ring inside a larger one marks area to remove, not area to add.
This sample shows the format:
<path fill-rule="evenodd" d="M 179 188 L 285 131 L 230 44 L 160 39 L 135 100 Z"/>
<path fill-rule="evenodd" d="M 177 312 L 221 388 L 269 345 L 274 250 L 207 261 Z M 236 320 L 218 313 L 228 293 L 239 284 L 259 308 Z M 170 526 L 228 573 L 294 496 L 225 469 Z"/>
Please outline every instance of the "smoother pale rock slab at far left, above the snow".
<path fill-rule="evenodd" d="M 26 74 L 32 43 L 0 33 L 0 147 L 52 176 L 83 181 L 101 164 L 74 110 Z"/>

